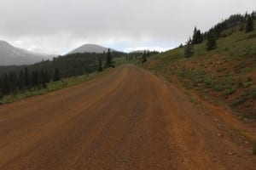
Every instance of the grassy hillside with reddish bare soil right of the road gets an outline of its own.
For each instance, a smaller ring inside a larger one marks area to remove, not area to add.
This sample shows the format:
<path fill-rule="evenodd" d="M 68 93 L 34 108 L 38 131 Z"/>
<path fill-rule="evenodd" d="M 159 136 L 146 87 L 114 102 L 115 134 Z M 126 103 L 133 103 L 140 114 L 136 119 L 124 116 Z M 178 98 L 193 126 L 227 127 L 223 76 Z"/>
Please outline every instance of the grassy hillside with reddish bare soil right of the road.
<path fill-rule="evenodd" d="M 225 36 L 212 51 L 207 51 L 204 41 L 194 46 L 195 54 L 190 58 L 183 57 L 184 48 L 175 48 L 154 55 L 144 66 L 205 99 L 229 105 L 242 119 L 255 119 L 256 29 L 245 33 L 239 28 L 222 32 Z"/>

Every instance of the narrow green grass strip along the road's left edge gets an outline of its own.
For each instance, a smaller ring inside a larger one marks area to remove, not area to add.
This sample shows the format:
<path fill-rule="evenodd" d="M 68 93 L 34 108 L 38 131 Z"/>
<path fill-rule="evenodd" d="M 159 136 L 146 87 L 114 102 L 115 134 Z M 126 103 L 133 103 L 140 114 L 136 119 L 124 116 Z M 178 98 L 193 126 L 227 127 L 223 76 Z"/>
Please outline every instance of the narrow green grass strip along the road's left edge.
<path fill-rule="evenodd" d="M 8 104 L 8 103 L 19 101 L 21 99 L 26 99 L 26 98 L 29 98 L 32 96 L 47 94 L 49 92 L 53 92 L 53 91 L 59 90 L 61 88 L 72 87 L 81 82 L 87 82 L 96 77 L 99 77 L 102 74 L 106 73 L 107 71 L 109 71 L 109 69 L 102 71 L 102 72 L 94 72 L 89 75 L 83 75 L 83 76 L 79 76 L 79 77 L 63 78 L 57 82 L 49 82 L 47 84 L 47 88 L 41 88 L 41 89 L 33 88 L 31 90 L 17 92 L 16 94 L 9 94 L 9 95 L 3 96 L 3 99 L 1 99 L 0 102 L 2 104 Z"/>

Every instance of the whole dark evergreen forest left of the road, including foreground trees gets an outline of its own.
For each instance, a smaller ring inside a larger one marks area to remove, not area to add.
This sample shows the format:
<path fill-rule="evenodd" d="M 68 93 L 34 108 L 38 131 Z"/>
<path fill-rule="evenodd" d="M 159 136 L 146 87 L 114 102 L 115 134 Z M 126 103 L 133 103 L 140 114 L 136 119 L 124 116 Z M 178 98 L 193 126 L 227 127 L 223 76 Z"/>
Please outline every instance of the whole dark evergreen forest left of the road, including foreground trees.
<path fill-rule="evenodd" d="M 119 55 L 114 52 L 112 54 L 108 49 L 107 54 L 68 54 L 34 65 L 4 66 L 3 70 L 7 71 L 0 72 L 0 99 L 8 94 L 47 88 L 47 83 L 59 81 L 64 77 L 75 77 L 114 67 L 113 57 Z M 106 59 L 104 67 L 102 58 Z"/>

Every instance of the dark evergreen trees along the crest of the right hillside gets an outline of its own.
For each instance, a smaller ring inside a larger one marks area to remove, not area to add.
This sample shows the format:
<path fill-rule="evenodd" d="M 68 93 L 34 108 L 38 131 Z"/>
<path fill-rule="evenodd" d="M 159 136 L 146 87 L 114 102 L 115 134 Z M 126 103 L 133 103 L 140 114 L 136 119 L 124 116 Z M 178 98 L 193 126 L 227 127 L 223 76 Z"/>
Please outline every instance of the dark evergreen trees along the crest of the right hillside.
<path fill-rule="evenodd" d="M 234 26 L 240 26 L 240 31 L 245 31 L 245 33 L 253 31 L 253 20 L 256 19 L 256 11 L 253 11 L 252 14 L 234 14 L 231 15 L 229 19 L 224 20 L 218 23 L 216 26 L 213 26 L 209 31 L 201 33 L 199 29 L 195 27 L 194 34 L 189 37 L 189 40 L 184 46 L 184 57 L 191 57 L 195 54 L 194 45 L 207 41 L 207 50 L 212 50 L 217 47 L 217 40 L 220 37 L 229 36 L 226 33 L 223 33 L 227 29 L 231 29 Z M 232 29 L 233 31 L 233 29 Z M 179 46 L 183 48 L 183 44 Z"/>

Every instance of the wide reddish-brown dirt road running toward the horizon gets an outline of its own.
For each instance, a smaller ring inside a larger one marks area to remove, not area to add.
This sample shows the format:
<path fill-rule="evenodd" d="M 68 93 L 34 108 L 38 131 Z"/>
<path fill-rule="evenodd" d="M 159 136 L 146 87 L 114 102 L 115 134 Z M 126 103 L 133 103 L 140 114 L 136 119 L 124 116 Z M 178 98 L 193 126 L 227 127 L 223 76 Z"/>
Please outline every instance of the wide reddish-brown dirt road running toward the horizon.
<path fill-rule="evenodd" d="M 134 65 L 0 106 L 1 170 L 253 169 L 250 147 Z"/>

